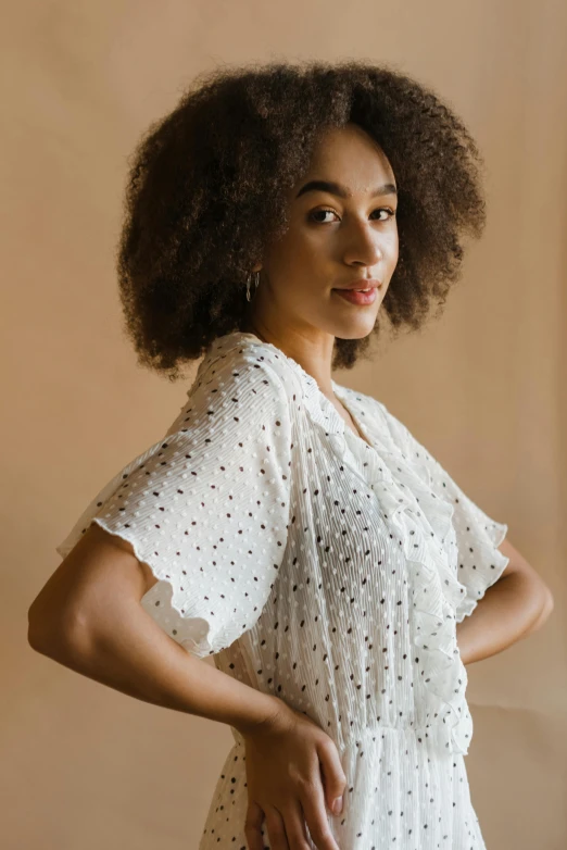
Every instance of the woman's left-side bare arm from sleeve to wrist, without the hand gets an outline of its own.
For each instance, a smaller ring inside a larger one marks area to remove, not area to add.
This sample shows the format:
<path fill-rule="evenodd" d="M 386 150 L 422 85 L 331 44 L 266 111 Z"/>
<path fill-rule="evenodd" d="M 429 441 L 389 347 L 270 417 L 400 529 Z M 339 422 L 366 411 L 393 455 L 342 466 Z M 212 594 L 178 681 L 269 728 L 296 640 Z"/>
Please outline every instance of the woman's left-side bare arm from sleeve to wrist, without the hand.
<path fill-rule="evenodd" d="M 142 568 L 143 567 L 143 568 Z M 286 708 L 187 652 L 140 605 L 148 567 L 90 525 L 28 612 L 37 652 L 129 697 L 227 723 L 242 734 Z"/>

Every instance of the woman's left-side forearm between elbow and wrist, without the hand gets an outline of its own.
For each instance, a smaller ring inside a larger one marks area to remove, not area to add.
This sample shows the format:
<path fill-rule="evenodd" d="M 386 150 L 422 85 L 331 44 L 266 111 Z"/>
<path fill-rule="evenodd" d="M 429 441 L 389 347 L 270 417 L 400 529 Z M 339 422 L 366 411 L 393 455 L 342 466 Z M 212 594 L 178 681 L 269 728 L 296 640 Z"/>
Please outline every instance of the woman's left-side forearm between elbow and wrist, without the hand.
<path fill-rule="evenodd" d="M 281 707 L 176 643 L 136 600 L 116 601 L 100 620 L 74 617 L 32 642 L 41 654 L 129 697 L 226 723 L 244 733 Z M 63 634 L 64 632 L 64 634 Z"/>

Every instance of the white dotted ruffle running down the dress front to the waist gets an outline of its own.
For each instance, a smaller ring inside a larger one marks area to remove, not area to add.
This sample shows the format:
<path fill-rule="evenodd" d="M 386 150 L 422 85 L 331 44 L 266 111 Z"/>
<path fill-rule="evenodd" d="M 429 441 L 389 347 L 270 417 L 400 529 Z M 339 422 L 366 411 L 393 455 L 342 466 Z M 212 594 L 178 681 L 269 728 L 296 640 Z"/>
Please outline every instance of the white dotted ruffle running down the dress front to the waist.
<path fill-rule="evenodd" d="M 465 696 L 468 677 L 456 641 L 455 612 L 467 591 L 456 578 L 444 545 L 454 533 L 454 508 L 427 490 L 398 451 L 380 443 L 377 437 L 373 441 L 374 449 L 354 435 L 352 440 L 349 436 L 349 446 L 345 434 L 331 438 L 343 461 L 350 448 L 367 464 L 365 482 L 376 491 L 385 518 L 402 540 L 411 576 L 413 642 L 419 675 L 433 697 L 430 737 L 444 752 L 466 754 L 472 717 Z M 436 714 L 441 716 L 441 724 Z"/>

